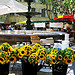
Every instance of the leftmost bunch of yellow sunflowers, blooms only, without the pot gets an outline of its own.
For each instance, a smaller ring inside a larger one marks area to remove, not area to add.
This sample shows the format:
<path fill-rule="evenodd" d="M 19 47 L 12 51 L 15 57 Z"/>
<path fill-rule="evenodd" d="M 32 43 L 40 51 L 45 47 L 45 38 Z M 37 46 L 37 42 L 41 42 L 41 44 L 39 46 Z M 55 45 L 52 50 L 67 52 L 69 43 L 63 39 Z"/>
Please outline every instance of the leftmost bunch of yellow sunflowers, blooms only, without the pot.
<path fill-rule="evenodd" d="M 7 42 L 3 43 L 0 46 L 0 63 L 1 64 L 15 62 L 16 57 L 14 55 L 15 55 L 14 49 L 12 49 L 12 47 Z"/>

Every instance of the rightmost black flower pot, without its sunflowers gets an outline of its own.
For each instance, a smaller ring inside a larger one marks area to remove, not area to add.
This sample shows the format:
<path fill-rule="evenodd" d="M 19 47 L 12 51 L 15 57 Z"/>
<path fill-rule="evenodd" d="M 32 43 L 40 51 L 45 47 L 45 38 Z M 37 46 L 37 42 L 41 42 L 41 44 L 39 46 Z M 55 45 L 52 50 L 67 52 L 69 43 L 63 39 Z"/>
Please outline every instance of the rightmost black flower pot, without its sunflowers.
<path fill-rule="evenodd" d="M 67 64 L 52 65 L 52 75 L 66 75 L 67 67 Z"/>

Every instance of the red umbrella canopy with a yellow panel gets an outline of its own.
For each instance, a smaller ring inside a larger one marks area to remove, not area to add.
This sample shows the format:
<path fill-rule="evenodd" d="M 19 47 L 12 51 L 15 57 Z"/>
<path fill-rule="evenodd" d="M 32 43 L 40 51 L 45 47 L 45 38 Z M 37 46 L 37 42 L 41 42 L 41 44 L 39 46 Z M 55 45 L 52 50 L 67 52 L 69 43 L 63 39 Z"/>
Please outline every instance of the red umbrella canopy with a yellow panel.
<path fill-rule="evenodd" d="M 74 21 L 74 15 L 62 15 L 62 16 L 57 16 L 53 20 L 65 20 L 65 21 Z"/>

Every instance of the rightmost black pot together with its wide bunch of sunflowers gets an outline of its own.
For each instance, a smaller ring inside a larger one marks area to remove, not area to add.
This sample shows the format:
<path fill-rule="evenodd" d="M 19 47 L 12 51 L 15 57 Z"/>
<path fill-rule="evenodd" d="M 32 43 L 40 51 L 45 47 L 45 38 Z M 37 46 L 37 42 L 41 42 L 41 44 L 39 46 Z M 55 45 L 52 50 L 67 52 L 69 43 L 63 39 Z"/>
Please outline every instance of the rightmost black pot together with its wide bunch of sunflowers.
<path fill-rule="evenodd" d="M 65 50 L 50 48 L 46 56 L 46 63 L 52 65 L 52 75 L 66 75 L 68 64 L 74 61 L 74 50 L 71 48 Z"/>

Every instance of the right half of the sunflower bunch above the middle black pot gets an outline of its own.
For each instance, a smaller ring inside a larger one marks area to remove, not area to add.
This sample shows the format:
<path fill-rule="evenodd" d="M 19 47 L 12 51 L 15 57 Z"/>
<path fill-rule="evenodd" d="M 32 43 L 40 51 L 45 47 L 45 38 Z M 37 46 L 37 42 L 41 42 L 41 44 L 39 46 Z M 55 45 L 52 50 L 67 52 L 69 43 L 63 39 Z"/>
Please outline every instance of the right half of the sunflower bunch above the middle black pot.
<path fill-rule="evenodd" d="M 42 48 L 40 44 L 35 44 L 33 47 L 33 53 L 29 56 L 28 61 L 30 64 L 37 64 L 40 60 L 46 60 L 46 49 Z"/>

